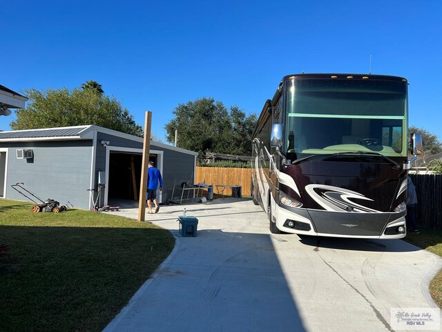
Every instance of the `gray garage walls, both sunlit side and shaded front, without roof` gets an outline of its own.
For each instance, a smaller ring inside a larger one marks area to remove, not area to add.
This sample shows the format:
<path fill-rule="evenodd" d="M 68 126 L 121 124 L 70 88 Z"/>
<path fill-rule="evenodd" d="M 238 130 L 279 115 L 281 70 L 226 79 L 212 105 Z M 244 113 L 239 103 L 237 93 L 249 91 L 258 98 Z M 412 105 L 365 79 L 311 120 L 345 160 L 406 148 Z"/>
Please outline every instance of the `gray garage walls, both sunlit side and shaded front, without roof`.
<path fill-rule="evenodd" d="M 90 137 L 90 136 L 89 136 Z M 97 131 L 95 146 L 95 185 L 97 173 L 106 168 L 106 148 L 101 141 L 110 142 L 113 147 L 142 149 L 143 142 L 114 136 Z M 8 178 L 6 198 L 27 200 L 10 185 L 23 182 L 26 189 L 35 192 L 41 199 L 56 199 L 61 205 L 70 201 L 75 208 L 88 209 L 90 196 L 90 172 L 93 163 L 93 140 L 48 140 L 34 142 L 0 142 L 0 148 L 8 148 Z M 17 149 L 33 149 L 32 160 L 17 159 Z M 167 145 L 151 144 L 151 150 L 163 151 L 164 190 L 163 202 L 181 195 L 181 183 L 192 185 L 194 182 L 195 156 L 177 151 Z M 4 173 L 4 172 L 3 172 Z"/>

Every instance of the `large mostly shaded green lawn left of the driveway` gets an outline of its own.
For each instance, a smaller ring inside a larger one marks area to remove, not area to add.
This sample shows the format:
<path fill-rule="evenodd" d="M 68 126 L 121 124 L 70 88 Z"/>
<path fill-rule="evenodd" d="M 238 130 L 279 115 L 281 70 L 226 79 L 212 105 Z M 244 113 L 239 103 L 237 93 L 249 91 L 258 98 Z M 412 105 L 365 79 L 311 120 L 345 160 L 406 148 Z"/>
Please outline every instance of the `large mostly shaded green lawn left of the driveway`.
<path fill-rule="evenodd" d="M 102 331 L 173 250 L 168 230 L 0 199 L 0 330 Z"/>

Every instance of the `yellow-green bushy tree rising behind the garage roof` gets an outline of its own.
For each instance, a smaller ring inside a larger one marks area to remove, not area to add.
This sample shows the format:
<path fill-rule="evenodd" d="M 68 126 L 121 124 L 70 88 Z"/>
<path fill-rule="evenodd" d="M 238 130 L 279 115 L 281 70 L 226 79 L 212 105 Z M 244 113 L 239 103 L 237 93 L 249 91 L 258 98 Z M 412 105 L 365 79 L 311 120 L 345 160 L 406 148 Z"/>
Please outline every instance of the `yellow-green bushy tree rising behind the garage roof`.
<path fill-rule="evenodd" d="M 100 92 L 100 84 L 95 86 L 90 82 L 95 81 L 88 81 L 81 85 L 81 89 L 75 88 L 73 91 L 66 88 L 25 91 L 26 97 L 29 98 L 28 104 L 26 109 L 15 111 L 17 120 L 10 123 L 11 129 L 95 124 L 123 133 L 143 136 L 142 127 L 135 123 L 129 111 L 122 107 L 122 104 L 114 97 Z"/>

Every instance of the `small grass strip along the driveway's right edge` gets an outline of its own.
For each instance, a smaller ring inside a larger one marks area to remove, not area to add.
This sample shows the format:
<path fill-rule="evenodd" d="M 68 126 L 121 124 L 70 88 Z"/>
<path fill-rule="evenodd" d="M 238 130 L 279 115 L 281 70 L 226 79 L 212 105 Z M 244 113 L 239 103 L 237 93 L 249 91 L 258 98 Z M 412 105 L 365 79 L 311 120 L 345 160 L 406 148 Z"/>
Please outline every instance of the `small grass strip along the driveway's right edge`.
<path fill-rule="evenodd" d="M 442 232 L 439 230 L 421 230 L 420 234 L 407 234 L 405 241 L 442 257 Z M 439 308 L 442 308 L 442 270 L 432 279 L 430 294 Z"/>

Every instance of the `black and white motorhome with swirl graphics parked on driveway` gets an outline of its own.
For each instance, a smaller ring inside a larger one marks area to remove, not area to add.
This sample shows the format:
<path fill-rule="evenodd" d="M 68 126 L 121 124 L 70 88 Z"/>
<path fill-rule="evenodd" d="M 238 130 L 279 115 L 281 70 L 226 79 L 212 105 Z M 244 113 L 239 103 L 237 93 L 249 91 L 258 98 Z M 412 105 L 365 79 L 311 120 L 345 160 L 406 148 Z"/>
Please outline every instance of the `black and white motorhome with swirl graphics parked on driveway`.
<path fill-rule="evenodd" d="M 253 133 L 253 202 L 272 233 L 402 238 L 409 156 L 421 150 L 405 78 L 287 75 Z"/>

